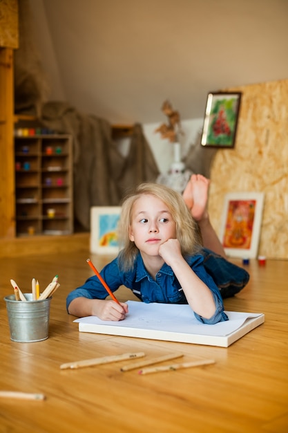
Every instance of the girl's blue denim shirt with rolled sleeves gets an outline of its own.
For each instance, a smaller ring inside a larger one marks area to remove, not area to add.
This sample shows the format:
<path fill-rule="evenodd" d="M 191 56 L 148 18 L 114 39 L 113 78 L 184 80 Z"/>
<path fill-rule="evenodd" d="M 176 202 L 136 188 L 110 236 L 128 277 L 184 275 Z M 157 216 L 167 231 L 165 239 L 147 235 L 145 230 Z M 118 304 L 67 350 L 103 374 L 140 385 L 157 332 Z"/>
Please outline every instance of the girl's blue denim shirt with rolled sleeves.
<path fill-rule="evenodd" d="M 206 319 L 194 312 L 195 317 L 202 323 L 215 324 L 228 320 L 224 313 L 222 296 L 218 286 L 213 278 L 204 267 L 204 255 L 197 254 L 186 257 L 186 261 L 191 266 L 191 269 L 196 275 L 209 287 L 215 302 L 215 313 L 209 319 Z M 119 286 L 126 286 L 138 297 L 142 302 L 160 302 L 164 304 L 187 304 L 184 291 L 182 290 L 173 270 L 167 264 L 163 264 L 155 279 L 146 271 L 140 253 L 137 255 L 133 270 L 123 272 L 119 270 L 117 257 L 107 264 L 100 272 L 104 281 L 115 292 Z M 76 297 L 86 297 L 89 299 L 104 300 L 107 297 L 107 292 L 102 286 L 97 276 L 90 277 L 86 280 L 83 286 L 76 288 L 70 292 L 66 306 L 68 308 L 70 302 Z"/>

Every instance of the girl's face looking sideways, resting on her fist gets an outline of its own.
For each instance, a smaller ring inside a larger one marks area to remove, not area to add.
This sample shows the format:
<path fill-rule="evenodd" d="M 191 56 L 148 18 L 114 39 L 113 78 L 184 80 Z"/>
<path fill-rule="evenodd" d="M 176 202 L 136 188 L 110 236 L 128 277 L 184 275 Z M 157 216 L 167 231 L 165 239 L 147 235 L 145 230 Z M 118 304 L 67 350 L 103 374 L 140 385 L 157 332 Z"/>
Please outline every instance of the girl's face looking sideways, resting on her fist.
<path fill-rule="evenodd" d="M 159 255 L 160 245 L 176 238 L 176 223 L 162 200 L 143 194 L 135 201 L 129 238 L 148 256 Z"/>

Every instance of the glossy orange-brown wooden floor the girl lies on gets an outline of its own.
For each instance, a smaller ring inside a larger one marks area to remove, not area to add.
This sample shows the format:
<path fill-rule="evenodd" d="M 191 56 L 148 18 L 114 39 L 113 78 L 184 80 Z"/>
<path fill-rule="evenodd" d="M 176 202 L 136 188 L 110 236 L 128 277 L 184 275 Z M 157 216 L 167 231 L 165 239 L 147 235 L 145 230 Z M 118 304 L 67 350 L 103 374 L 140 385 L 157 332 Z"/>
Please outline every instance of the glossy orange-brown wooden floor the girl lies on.
<path fill-rule="evenodd" d="M 108 260 L 86 247 L 0 259 L 0 389 L 47 397 L 2 398 L 0 432 L 288 432 L 288 261 L 268 260 L 265 267 L 251 261 L 247 288 L 225 308 L 265 313 L 265 323 L 222 348 L 79 333 L 65 301 L 91 275 L 88 257 L 98 268 Z M 30 291 L 32 277 L 46 286 L 55 274 L 61 287 L 51 302 L 48 340 L 12 342 L 3 301 L 12 294 L 10 279 Z M 120 300 L 134 299 L 120 291 Z M 64 362 L 135 351 L 146 357 L 176 351 L 183 361 L 213 358 L 215 364 L 146 376 L 120 371 L 127 361 L 59 369 Z"/>

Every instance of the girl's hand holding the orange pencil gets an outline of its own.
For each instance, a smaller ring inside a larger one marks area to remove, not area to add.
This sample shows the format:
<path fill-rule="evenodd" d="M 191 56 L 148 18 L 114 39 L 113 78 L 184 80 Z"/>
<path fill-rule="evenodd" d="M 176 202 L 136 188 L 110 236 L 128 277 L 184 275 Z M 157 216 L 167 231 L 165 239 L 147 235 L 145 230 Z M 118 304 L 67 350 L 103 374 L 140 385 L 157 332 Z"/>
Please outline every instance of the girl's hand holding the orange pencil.
<path fill-rule="evenodd" d="M 124 320 L 128 313 L 128 305 L 124 302 L 117 302 L 112 300 L 91 300 L 94 302 L 93 315 L 97 315 L 101 320 L 113 320 L 113 322 L 119 322 Z"/>

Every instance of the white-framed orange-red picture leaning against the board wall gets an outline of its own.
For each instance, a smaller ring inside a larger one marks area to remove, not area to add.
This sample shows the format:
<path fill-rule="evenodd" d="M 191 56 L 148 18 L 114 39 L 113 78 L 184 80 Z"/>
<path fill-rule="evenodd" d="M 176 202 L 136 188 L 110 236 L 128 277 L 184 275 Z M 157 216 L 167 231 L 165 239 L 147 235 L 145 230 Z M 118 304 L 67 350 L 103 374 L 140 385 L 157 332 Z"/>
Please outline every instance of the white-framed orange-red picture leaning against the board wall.
<path fill-rule="evenodd" d="M 263 205 L 262 192 L 233 192 L 225 195 L 220 241 L 227 256 L 256 258 Z"/>

